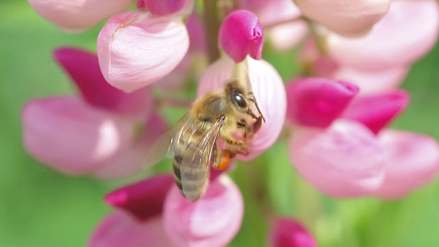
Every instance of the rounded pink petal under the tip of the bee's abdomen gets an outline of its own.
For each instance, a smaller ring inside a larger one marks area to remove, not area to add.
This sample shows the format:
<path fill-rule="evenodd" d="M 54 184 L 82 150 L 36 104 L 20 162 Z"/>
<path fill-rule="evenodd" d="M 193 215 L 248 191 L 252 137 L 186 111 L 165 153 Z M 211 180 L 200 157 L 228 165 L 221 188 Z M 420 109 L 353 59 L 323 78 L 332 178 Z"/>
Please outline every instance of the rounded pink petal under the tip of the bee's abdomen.
<path fill-rule="evenodd" d="M 241 192 L 220 176 L 197 202 L 172 187 L 165 200 L 165 230 L 178 246 L 226 246 L 235 237 L 244 213 Z"/>

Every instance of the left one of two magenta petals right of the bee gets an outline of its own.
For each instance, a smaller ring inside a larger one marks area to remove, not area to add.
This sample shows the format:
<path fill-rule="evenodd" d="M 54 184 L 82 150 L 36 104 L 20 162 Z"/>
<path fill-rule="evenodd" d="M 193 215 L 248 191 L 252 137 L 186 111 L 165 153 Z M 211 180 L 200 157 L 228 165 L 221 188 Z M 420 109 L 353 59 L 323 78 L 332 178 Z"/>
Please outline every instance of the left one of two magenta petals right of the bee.
<path fill-rule="evenodd" d="M 358 93 L 348 82 L 325 78 L 300 78 L 287 85 L 287 117 L 296 124 L 325 128 Z"/>

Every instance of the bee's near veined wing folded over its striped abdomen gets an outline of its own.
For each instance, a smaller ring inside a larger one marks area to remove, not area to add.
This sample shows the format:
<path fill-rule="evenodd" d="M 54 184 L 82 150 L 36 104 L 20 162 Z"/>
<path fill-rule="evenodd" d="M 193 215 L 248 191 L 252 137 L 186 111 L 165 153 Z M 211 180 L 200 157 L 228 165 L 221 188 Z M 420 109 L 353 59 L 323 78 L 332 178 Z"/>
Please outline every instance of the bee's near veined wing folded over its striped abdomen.
<path fill-rule="evenodd" d="M 194 187 L 201 188 L 199 193 L 204 192 L 209 180 L 209 166 L 213 155 L 213 148 L 217 140 L 219 130 L 224 124 L 224 117 L 217 119 L 213 127 L 202 134 L 202 138 L 195 146 L 191 147 L 193 153 L 184 156 L 180 164 L 180 174 L 182 182 L 182 191 L 189 200 L 195 200 L 200 196 L 189 195 L 188 192 L 193 192 Z M 195 133 L 198 126 L 191 126 L 191 131 Z M 182 133 L 182 132 L 180 132 Z"/>

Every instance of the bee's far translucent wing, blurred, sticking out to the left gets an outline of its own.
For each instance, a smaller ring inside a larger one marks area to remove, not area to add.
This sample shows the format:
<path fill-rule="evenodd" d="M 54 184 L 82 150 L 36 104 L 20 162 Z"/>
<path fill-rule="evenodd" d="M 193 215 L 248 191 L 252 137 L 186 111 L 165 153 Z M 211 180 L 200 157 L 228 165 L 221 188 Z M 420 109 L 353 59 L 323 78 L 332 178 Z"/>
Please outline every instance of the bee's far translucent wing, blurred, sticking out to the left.
<path fill-rule="evenodd" d="M 181 131 L 180 126 L 187 126 L 185 124 L 187 121 L 189 121 L 188 115 L 183 116 L 147 150 L 145 167 L 155 165 L 166 157 L 173 158 L 176 133 Z"/>

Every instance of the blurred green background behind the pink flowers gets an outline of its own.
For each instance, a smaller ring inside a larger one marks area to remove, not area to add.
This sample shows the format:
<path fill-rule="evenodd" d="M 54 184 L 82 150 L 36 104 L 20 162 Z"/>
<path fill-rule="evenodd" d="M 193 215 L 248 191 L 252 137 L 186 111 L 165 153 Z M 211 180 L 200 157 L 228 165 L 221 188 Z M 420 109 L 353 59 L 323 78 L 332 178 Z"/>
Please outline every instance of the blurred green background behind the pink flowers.
<path fill-rule="evenodd" d="M 51 51 L 61 45 L 94 50 L 99 27 L 65 34 L 26 1 L 12 0 L 1 1 L 0 20 L 0 246 L 84 246 L 110 212 L 102 196 L 117 185 L 64 176 L 34 161 L 23 150 L 20 113 L 29 99 L 73 92 Z M 298 71 L 290 53 L 269 51 L 265 58 L 285 79 Z M 438 64 L 438 46 L 414 64 L 403 84 L 412 102 L 392 128 L 439 139 Z M 320 246 L 439 246 L 437 181 L 403 200 L 333 200 L 297 176 L 282 140 L 231 176 L 246 214 L 230 246 L 263 246 L 267 209 L 302 220 Z"/>

